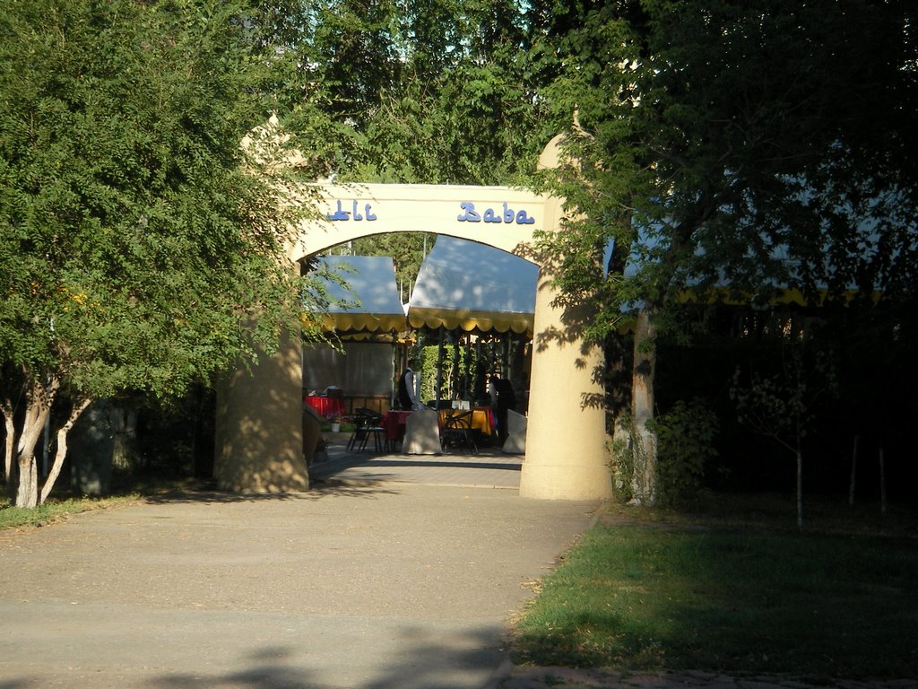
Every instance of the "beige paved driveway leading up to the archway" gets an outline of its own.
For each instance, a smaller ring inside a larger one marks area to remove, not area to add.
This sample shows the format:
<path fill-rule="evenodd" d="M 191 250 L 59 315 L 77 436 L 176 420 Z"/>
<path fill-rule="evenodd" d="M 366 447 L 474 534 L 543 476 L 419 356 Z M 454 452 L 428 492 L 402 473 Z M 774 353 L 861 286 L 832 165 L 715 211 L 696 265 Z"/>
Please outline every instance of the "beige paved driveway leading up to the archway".
<path fill-rule="evenodd" d="M 505 457 L 465 474 L 457 457 L 377 458 L 374 476 L 332 456 L 308 493 L 0 533 L 0 689 L 487 685 L 527 582 L 597 505 L 482 487 L 519 474 Z"/>

